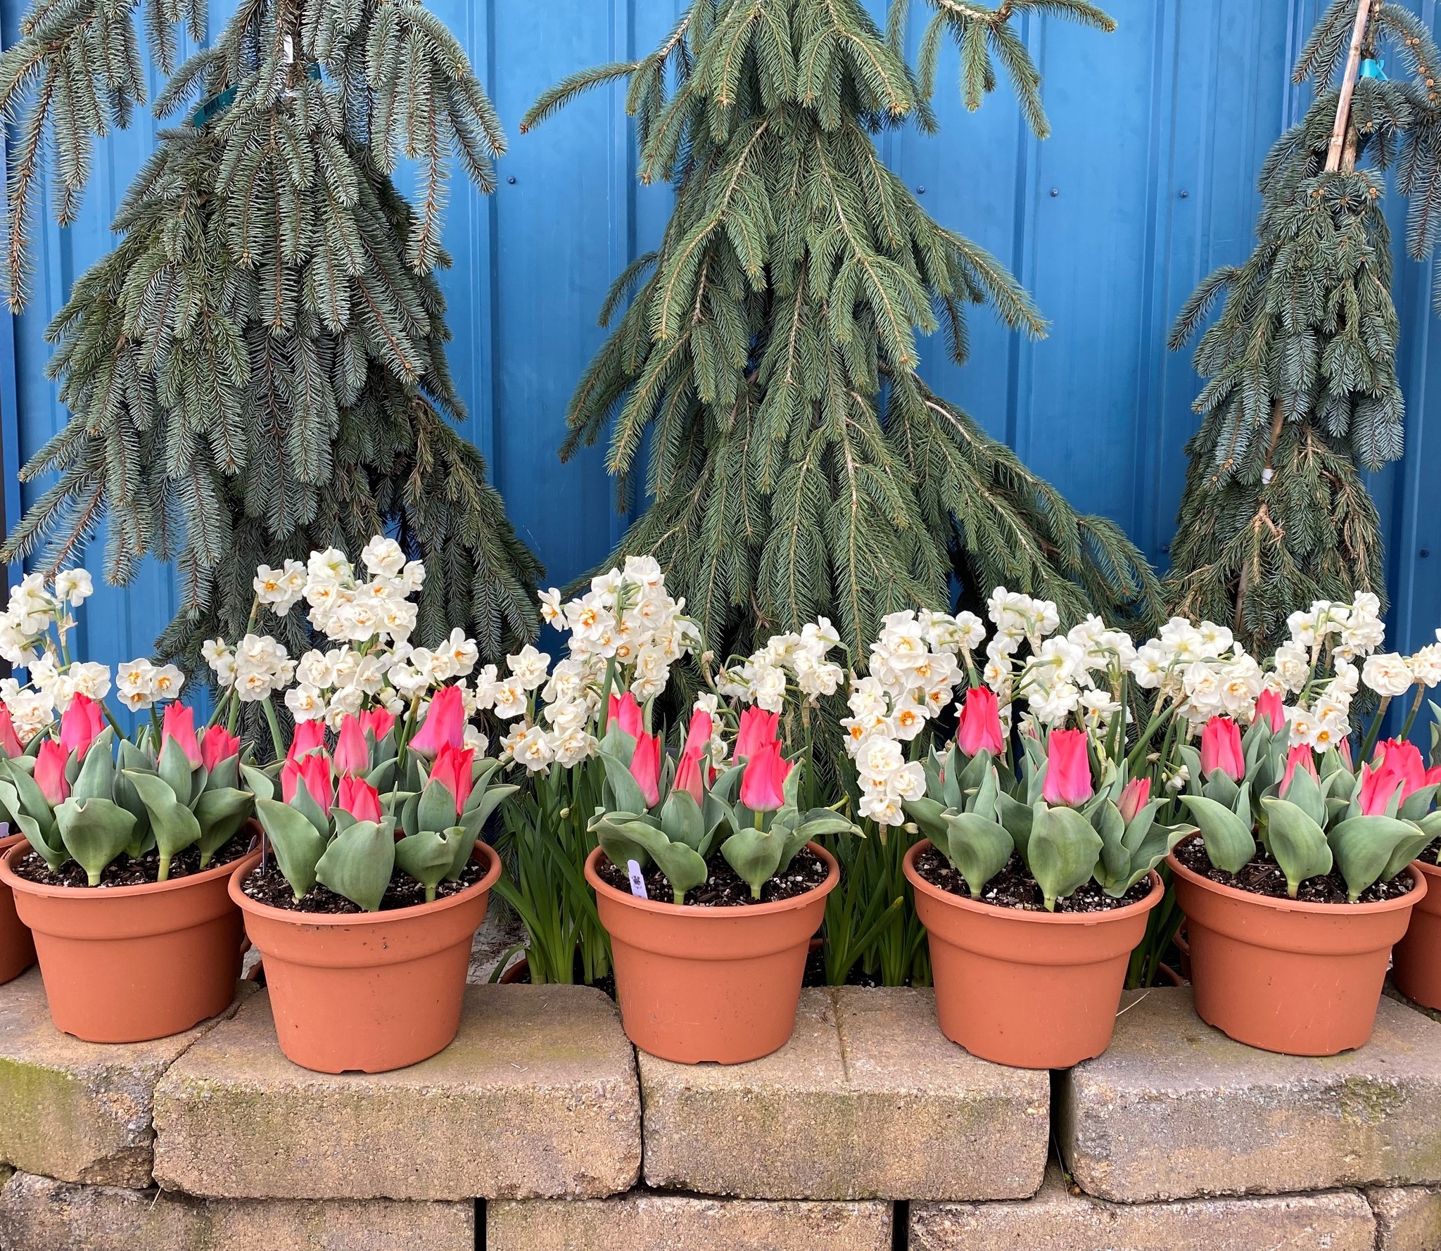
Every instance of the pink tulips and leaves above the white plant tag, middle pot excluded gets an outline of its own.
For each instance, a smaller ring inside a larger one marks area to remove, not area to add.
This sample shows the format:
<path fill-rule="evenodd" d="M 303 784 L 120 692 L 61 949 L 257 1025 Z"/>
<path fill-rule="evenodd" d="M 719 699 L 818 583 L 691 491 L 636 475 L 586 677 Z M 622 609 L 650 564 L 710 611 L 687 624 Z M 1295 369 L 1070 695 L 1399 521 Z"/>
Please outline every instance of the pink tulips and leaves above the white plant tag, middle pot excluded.
<path fill-rule="evenodd" d="M 641 869 L 654 862 L 676 904 L 710 875 L 706 862 L 716 849 L 759 899 L 806 843 L 860 833 L 833 809 L 800 810 L 801 768 L 785 760 L 774 713 L 742 713 L 736 739 L 742 762 L 713 780 L 705 757 L 708 713 L 692 713 L 679 762 L 666 757 L 659 736 L 635 729 L 627 732 L 617 719 L 601 741 L 605 794 L 589 827 L 623 872 L 631 860 Z"/>

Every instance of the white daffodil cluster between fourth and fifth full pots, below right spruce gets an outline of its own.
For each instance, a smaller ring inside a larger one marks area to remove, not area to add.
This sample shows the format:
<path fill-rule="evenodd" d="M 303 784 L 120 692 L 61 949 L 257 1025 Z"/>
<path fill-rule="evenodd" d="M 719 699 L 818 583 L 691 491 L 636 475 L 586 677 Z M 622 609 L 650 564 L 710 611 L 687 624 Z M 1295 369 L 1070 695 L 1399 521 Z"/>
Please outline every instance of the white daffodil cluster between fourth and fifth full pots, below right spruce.
<path fill-rule="evenodd" d="M 1185 617 L 1172 617 L 1159 638 L 1143 643 L 1130 670 L 1137 686 L 1174 699 L 1197 734 L 1212 716 L 1249 725 L 1267 687 L 1259 662 L 1231 630 L 1213 621 L 1193 626 Z"/>

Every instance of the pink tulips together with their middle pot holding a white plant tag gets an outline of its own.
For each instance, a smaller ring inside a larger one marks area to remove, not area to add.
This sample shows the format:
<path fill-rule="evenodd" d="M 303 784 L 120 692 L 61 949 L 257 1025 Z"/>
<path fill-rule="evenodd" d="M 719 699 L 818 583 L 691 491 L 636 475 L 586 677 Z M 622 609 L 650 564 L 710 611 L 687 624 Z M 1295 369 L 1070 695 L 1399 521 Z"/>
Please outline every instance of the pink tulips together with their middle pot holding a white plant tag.
<path fill-rule="evenodd" d="M 795 1026 L 810 940 L 840 879 L 814 840 L 853 827 L 830 809 L 801 810 L 804 767 L 787 758 L 777 722 L 745 709 L 736 764 L 715 778 L 705 708 L 679 762 L 621 718 L 601 742 L 605 803 L 585 875 L 611 935 L 625 1033 L 663 1059 L 758 1059 Z"/>

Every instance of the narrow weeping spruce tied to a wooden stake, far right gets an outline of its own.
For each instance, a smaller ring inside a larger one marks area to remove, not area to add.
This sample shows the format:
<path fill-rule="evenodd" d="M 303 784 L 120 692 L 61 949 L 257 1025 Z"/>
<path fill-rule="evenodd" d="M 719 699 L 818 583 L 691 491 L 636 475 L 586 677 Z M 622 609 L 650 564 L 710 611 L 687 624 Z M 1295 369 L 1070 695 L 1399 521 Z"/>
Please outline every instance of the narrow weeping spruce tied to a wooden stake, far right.
<path fill-rule="evenodd" d="M 1428 257 L 1441 235 L 1438 68 L 1429 30 L 1404 6 L 1334 0 L 1295 66 L 1314 101 L 1261 170 L 1257 248 L 1208 277 L 1172 331 L 1180 347 L 1225 295 L 1195 355 L 1208 382 L 1167 598 L 1231 624 L 1258 656 L 1297 607 L 1385 597 L 1380 519 L 1362 478 L 1404 448 L 1383 180 L 1395 167 L 1406 248 Z"/>

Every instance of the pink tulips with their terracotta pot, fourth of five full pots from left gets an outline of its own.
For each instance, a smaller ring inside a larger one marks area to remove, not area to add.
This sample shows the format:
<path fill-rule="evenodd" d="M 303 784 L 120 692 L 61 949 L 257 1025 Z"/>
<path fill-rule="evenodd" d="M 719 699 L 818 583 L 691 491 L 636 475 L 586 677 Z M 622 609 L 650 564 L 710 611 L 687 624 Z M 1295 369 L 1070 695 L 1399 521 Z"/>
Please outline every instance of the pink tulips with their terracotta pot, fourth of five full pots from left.
<path fill-rule="evenodd" d="M 925 796 L 905 801 L 927 834 L 905 871 L 937 1016 L 983 1059 L 1069 1068 L 1110 1045 L 1131 951 L 1164 895 L 1156 866 L 1193 827 L 1157 820 L 1150 778 L 1127 778 L 1087 729 L 1025 734 L 1019 777 L 997 767 L 994 706 L 970 700 L 984 711 L 964 728 L 989 747 L 932 751 Z"/>

